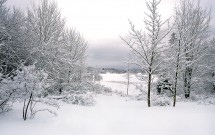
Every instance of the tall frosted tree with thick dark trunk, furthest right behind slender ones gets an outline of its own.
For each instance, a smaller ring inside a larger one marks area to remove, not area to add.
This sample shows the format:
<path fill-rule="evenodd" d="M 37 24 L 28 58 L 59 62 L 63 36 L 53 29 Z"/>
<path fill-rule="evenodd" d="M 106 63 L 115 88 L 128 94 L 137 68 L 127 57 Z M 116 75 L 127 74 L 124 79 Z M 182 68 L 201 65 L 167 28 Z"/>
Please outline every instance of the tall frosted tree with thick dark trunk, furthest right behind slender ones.
<path fill-rule="evenodd" d="M 185 97 L 190 97 L 198 61 L 205 55 L 211 20 L 210 11 L 202 9 L 200 1 L 182 0 L 175 12 L 175 33 L 183 48 L 183 82 Z"/>

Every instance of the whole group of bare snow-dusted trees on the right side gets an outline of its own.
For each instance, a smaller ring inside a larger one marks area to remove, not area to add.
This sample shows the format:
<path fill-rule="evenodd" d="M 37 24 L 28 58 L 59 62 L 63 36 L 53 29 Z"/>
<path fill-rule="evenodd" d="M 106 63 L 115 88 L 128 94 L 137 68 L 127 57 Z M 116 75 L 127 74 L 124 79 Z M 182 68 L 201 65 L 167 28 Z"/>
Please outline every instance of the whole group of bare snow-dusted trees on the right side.
<path fill-rule="evenodd" d="M 151 106 L 151 93 L 155 92 L 152 90 L 156 89 L 154 76 L 158 77 L 162 87 L 170 90 L 173 106 L 177 96 L 189 99 L 215 93 L 215 39 L 210 30 L 211 10 L 202 8 L 199 0 L 181 0 L 172 17 L 162 21 L 158 11 L 160 2 L 147 1 L 144 30 L 136 29 L 129 21 L 130 39 L 122 38 L 136 56 L 128 63 L 139 66 L 148 75 L 148 106 Z"/>

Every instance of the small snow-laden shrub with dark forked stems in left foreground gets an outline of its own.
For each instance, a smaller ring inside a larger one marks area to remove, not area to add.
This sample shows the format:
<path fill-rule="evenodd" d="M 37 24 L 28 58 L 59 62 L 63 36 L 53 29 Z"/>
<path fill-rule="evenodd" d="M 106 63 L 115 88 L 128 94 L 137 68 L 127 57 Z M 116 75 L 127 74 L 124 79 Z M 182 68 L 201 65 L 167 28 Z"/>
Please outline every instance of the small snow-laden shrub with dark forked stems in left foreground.
<path fill-rule="evenodd" d="M 31 117 L 34 117 L 36 112 L 35 106 L 37 103 L 48 104 L 58 107 L 57 103 L 52 101 L 45 101 L 45 88 L 46 88 L 46 79 L 48 75 L 43 71 L 35 69 L 35 66 L 22 66 L 16 73 L 14 77 L 14 83 L 17 86 L 19 92 L 19 100 L 24 102 L 23 106 L 23 119 L 26 120 L 28 117 L 28 110 L 31 112 Z M 48 110 L 48 109 L 42 109 Z M 49 112 L 52 112 L 48 110 Z"/>

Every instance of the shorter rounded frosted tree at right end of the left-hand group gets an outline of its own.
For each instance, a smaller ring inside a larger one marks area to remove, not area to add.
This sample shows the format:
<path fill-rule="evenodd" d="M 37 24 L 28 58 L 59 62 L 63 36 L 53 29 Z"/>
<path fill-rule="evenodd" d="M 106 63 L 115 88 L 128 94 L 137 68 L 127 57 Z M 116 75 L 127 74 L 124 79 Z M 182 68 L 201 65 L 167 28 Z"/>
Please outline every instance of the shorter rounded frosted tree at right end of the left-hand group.
<path fill-rule="evenodd" d="M 81 34 L 74 29 L 67 29 L 64 33 L 64 43 L 59 49 L 59 63 L 64 65 L 60 68 L 60 80 L 62 89 L 76 89 L 84 82 L 85 53 L 87 42 Z M 62 92 L 62 91 L 61 91 Z"/>

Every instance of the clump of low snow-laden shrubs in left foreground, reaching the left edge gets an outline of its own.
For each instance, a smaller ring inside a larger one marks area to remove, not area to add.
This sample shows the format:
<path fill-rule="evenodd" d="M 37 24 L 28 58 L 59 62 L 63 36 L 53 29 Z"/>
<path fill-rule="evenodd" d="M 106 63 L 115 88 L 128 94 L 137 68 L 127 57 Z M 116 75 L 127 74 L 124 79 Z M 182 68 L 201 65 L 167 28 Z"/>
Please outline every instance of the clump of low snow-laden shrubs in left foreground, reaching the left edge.
<path fill-rule="evenodd" d="M 1 112 L 8 111 L 10 104 L 15 101 L 23 102 L 23 119 L 34 117 L 36 104 L 48 104 L 58 107 L 53 101 L 47 102 L 45 97 L 47 74 L 36 70 L 35 66 L 22 65 L 12 78 L 2 78 L 0 85 L 0 109 Z M 47 110 L 47 109 L 42 109 Z M 49 110 L 51 112 L 51 110 Z M 30 113 L 30 114 L 29 114 Z"/>

